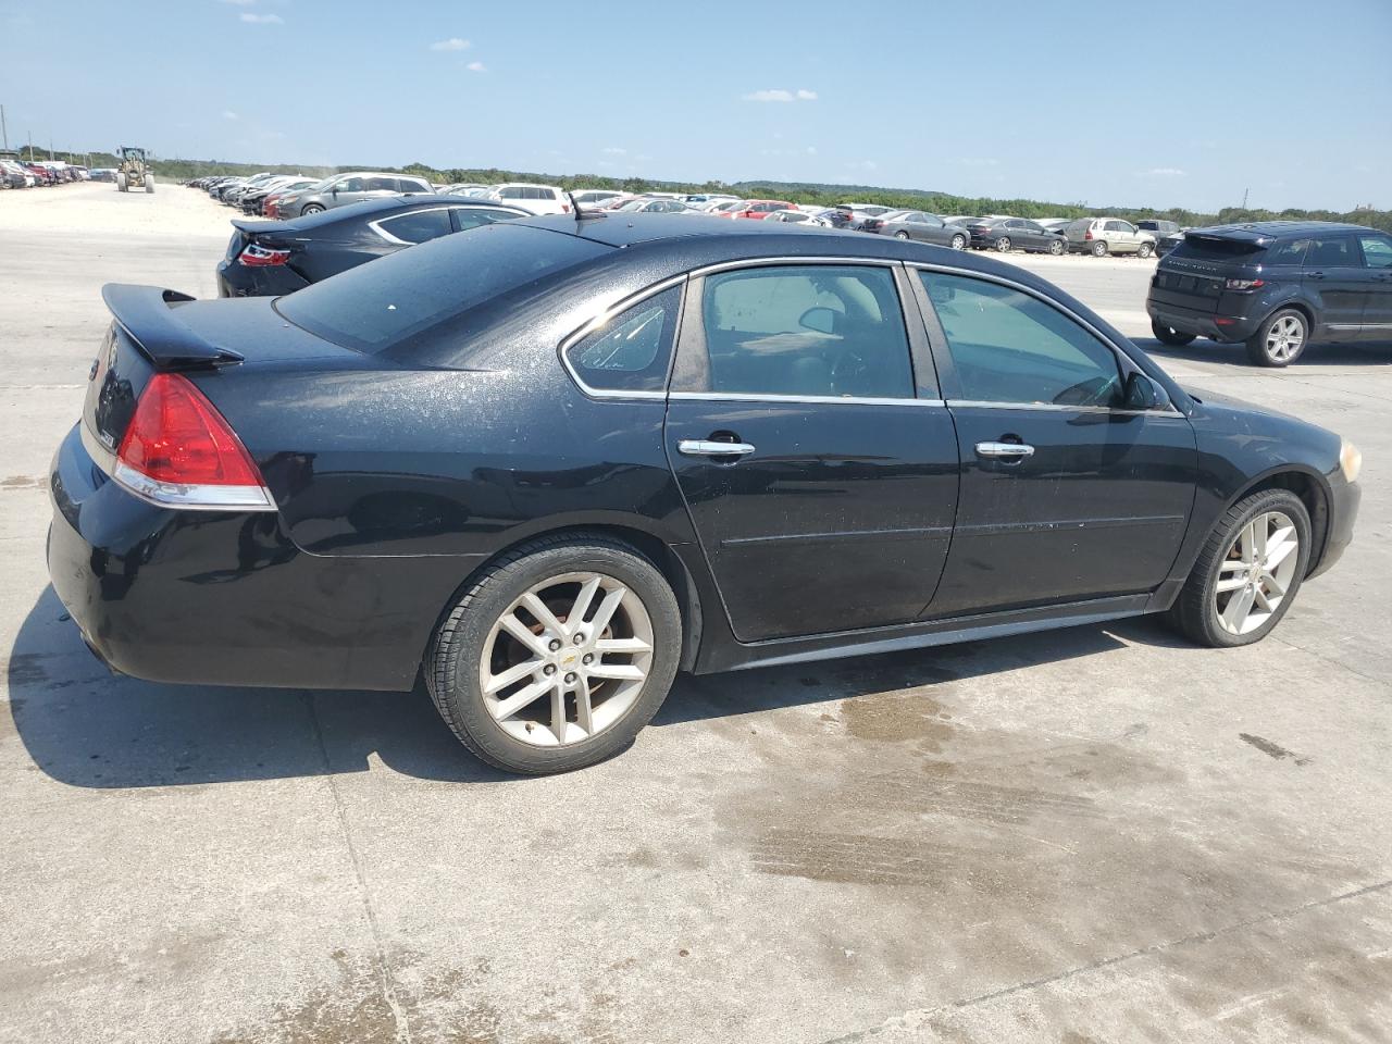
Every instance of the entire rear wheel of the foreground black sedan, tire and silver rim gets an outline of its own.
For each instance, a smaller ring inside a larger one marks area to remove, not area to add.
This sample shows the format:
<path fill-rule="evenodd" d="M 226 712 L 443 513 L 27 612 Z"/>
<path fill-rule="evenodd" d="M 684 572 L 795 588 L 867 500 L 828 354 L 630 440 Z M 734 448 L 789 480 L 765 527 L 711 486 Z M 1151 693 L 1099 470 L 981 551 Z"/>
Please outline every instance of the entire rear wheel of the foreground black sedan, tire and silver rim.
<path fill-rule="evenodd" d="M 625 749 L 667 699 L 682 621 L 663 574 L 607 536 L 544 537 L 470 585 L 425 677 L 480 760 L 564 773 Z"/>

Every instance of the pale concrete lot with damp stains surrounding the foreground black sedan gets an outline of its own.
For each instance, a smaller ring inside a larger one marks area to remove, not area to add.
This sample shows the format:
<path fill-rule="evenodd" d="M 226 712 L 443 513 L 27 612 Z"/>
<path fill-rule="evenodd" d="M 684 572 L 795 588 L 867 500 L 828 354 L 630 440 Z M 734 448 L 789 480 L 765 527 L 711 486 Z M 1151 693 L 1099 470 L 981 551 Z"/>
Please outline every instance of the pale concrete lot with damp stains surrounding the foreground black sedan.
<path fill-rule="evenodd" d="M 1392 349 L 1160 356 L 1364 451 L 1357 541 L 1260 646 L 685 678 L 626 754 L 518 781 L 420 695 L 117 679 L 64 619 L 99 288 L 210 295 L 228 217 L 0 193 L 0 1041 L 1392 1038 Z M 1016 260 L 1144 333 L 1153 263 Z"/>

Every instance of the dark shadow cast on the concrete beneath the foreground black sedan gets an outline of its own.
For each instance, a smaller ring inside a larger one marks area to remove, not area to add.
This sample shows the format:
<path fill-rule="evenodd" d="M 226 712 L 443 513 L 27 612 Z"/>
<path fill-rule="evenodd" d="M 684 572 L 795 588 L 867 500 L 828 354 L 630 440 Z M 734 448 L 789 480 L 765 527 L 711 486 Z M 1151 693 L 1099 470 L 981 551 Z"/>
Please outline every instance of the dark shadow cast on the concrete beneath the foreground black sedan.
<path fill-rule="evenodd" d="M 933 686 L 1178 639 L 1150 621 L 1080 626 L 905 653 L 682 675 L 654 727 Z M 7 661 L 10 714 L 33 763 L 70 786 L 187 786 L 391 771 L 440 782 L 514 780 L 470 757 L 423 688 L 409 693 L 164 685 L 113 675 L 52 587 Z M 3 732 L 4 722 L 0 722 Z"/>

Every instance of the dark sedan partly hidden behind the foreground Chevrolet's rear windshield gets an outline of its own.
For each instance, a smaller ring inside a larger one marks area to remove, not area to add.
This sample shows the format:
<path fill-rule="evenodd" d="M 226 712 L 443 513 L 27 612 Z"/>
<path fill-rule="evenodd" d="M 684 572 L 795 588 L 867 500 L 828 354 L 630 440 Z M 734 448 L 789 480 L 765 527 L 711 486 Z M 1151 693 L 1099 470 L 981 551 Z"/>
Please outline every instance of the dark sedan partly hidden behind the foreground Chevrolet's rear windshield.
<path fill-rule="evenodd" d="M 530 212 L 490 199 L 384 196 L 288 221 L 232 221 L 217 264 L 224 298 L 277 296 L 374 258 Z"/>

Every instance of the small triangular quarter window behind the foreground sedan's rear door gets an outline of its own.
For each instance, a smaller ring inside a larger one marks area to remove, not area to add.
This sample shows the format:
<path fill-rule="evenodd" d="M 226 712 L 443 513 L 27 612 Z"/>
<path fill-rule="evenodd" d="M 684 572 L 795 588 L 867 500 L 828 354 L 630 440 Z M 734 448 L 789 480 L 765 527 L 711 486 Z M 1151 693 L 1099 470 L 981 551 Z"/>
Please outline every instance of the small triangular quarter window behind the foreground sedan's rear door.
<path fill-rule="evenodd" d="M 572 344 L 565 358 L 592 388 L 661 391 L 679 305 L 681 287 L 654 294 Z"/>

